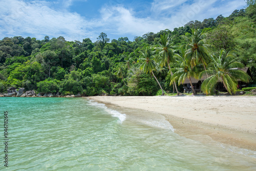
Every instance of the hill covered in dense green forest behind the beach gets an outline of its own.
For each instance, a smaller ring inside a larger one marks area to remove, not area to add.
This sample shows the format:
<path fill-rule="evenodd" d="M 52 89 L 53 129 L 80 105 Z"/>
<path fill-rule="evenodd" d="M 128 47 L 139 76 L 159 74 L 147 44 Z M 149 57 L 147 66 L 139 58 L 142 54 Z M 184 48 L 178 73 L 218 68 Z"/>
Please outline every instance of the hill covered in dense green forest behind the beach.
<path fill-rule="evenodd" d="M 174 73 L 182 67 L 186 55 L 183 58 L 176 56 L 182 57 L 181 47 L 185 48 L 184 54 L 187 53 L 191 41 L 199 38 L 197 35 L 206 36 L 200 39 L 201 44 L 207 45 L 203 54 L 205 60 L 200 56 L 192 60 L 193 56 L 190 56 L 186 61 L 190 62 L 190 69 L 198 68 L 196 75 L 209 69 L 211 65 L 208 64 L 212 63 L 214 54 L 219 54 L 221 50 L 225 53 L 233 50 L 238 61 L 250 68 L 253 77 L 250 83 L 254 81 L 255 84 L 256 6 L 255 1 L 247 1 L 247 4 L 246 9 L 235 10 L 228 17 L 219 15 L 216 19 L 208 18 L 202 22 L 191 21 L 184 27 L 146 33 L 133 41 L 127 37 L 110 40 L 105 33 L 101 33 L 96 42 L 89 38 L 84 38 L 82 42 L 66 41 L 62 36 L 52 39 L 45 36 L 43 40 L 5 37 L 0 40 L 0 92 L 15 87 L 42 93 L 60 92 L 63 95 L 78 92 L 86 96 L 155 95 L 160 90 L 155 77 L 165 91 L 173 91 L 169 66 Z M 161 60 L 164 41 L 168 42 L 166 47 L 172 57 L 169 60 Z M 145 51 L 146 47 L 148 51 Z M 194 51 L 198 47 L 193 48 Z M 152 55 L 146 62 L 138 60 L 148 53 Z M 153 65 L 146 68 L 149 60 L 153 61 Z M 178 86 L 178 79 L 173 80 Z"/>

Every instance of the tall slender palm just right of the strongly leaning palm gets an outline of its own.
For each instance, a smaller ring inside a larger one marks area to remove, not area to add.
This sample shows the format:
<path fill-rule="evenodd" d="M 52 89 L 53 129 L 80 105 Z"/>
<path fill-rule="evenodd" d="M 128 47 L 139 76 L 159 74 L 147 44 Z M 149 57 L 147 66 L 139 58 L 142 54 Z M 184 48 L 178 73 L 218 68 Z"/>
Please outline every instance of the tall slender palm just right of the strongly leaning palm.
<path fill-rule="evenodd" d="M 173 49 L 173 42 L 171 42 L 171 39 L 168 35 L 161 35 L 160 37 L 160 47 L 155 47 L 156 50 L 159 51 L 158 55 L 156 56 L 156 61 L 159 62 L 160 67 L 165 67 L 166 63 L 170 71 L 170 75 L 173 76 L 173 72 L 170 69 L 170 62 L 175 61 L 174 55 L 175 55 L 175 50 Z M 176 82 L 174 82 L 174 87 L 176 89 L 177 94 L 179 95 L 180 92 L 177 89 Z"/>

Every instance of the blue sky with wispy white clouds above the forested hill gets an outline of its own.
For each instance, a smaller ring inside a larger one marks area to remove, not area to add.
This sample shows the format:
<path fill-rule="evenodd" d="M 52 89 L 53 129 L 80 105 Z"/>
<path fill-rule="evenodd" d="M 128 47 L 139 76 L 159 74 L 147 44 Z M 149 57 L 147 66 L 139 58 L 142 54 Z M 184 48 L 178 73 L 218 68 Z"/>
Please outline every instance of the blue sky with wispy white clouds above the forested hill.
<path fill-rule="evenodd" d="M 68 41 L 101 32 L 108 38 L 135 36 L 182 27 L 245 8 L 244 0 L 0 0 L 0 39 L 63 36 Z"/>

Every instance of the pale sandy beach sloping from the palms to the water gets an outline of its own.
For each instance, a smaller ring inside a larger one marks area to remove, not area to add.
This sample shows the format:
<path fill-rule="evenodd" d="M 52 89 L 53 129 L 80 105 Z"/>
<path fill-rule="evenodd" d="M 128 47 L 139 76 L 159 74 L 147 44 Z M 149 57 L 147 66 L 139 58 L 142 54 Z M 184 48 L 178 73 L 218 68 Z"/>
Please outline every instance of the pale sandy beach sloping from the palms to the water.
<path fill-rule="evenodd" d="M 205 135 L 217 142 L 256 151 L 255 96 L 94 96 L 89 98 L 122 108 L 161 114 L 181 136 L 197 139 L 197 135 Z"/>

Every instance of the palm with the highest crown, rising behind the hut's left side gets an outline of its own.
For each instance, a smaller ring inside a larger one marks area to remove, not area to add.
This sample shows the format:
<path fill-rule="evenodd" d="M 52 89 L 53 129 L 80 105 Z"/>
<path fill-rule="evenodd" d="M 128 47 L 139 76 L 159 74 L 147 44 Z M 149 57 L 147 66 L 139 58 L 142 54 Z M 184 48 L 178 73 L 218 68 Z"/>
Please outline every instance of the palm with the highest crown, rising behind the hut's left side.
<path fill-rule="evenodd" d="M 190 60 L 191 67 L 195 67 L 200 62 L 203 63 L 204 70 L 206 71 L 207 62 L 209 62 L 210 59 L 208 53 L 208 47 L 210 47 L 210 45 L 205 43 L 206 35 L 200 33 L 199 29 L 191 29 L 191 33 L 191 37 L 182 36 L 189 41 L 189 44 L 186 45 L 185 57 Z M 207 72 L 206 75 L 208 77 Z"/>

